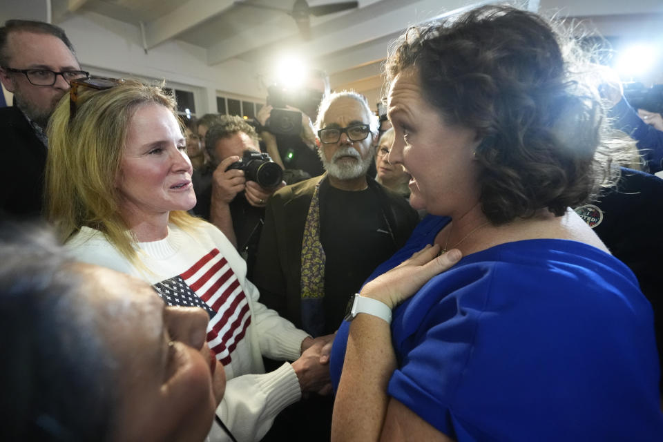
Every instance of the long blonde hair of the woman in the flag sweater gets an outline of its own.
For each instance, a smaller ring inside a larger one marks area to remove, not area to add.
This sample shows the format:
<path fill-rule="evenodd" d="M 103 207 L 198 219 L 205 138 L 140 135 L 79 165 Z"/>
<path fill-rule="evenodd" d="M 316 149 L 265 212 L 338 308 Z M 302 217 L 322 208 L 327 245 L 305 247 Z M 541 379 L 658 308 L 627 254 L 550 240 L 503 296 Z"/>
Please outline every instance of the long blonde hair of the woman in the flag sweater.
<path fill-rule="evenodd" d="M 164 95 L 161 87 L 126 79 L 108 90 L 81 87 L 77 103 L 70 121 L 65 95 L 48 124 L 47 218 L 62 242 L 81 227 L 91 227 L 104 233 L 108 242 L 135 263 L 137 240 L 120 215 L 113 183 L 136 108 L 160 104 L 175 114 L 175 100 Z M 201 223 L 184 211 L 172 211 L 169 220 L 182 228 Z"/>

